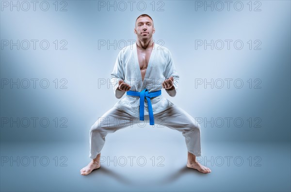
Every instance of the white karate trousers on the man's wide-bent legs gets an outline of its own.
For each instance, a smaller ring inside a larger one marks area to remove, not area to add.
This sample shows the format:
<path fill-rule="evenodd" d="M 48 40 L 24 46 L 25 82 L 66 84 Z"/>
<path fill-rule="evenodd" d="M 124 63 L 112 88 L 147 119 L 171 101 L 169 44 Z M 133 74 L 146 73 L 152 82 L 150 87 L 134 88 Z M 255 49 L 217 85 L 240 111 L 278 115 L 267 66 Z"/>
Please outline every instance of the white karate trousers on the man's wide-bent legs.
<path fill-rule="evenodd" d="M 163 112 L 154 114 L 154 118 L 155 125 L 159 124 L 181 132 L 185 137 L 188 151 L 197 157 L 201 156 L 200 125 L 190 114 L 173 105 Z M 149 122 L 148 115 L 145 115 L 145 121 Z M 141 124 L 142 122 L 139 120 L 139 117 L 134 117 L 116 107 L 105 112 L 90 129 L 89 158 L 95 159 L 97 154 L 101 153 L 101 149 L 105 144 L 105 137 L 108 133 L 113 133 L 118 129 L 137 123 Z"/>

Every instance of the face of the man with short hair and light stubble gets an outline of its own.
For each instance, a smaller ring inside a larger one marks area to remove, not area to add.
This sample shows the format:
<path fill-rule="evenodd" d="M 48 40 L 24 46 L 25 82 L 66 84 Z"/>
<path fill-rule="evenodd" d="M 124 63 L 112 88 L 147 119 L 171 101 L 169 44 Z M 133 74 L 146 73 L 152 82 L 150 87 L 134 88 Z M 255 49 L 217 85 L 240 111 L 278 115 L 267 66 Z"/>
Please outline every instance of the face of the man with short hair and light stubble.
<path fill-rule="evenodd" d="M 149 17 L 140 17 L 135 23 L 134 33 L 137 34 L 139 40 L 151 39 L 155 28 L 153 27 L 153 21 Z"/>

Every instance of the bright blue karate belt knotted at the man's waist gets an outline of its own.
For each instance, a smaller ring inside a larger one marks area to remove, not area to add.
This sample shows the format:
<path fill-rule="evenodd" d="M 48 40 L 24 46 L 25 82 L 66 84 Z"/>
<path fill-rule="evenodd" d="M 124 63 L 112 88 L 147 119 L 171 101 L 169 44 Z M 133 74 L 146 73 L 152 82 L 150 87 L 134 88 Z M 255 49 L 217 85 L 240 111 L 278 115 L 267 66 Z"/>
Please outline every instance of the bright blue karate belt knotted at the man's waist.
<path fill-rule="evenodd" d="M 140 97 L 140 120 L 145 120 L 145 97 L 147 100 L 147 106 L 148 106 L 148 116 L 149 116 L 149 125 L 155 125 L 154 121 L 154 112 L 153 108 L 151 106 L 150 98 L 155 96 L 160 96 L 162 94 L 162 90 L 154 91 L 154 92 L 148 92 L 147 89 L 144 89 L 142 92 L 137 91 L 128 91 L 126 92 L 129 96 L 139 96 Z"/>

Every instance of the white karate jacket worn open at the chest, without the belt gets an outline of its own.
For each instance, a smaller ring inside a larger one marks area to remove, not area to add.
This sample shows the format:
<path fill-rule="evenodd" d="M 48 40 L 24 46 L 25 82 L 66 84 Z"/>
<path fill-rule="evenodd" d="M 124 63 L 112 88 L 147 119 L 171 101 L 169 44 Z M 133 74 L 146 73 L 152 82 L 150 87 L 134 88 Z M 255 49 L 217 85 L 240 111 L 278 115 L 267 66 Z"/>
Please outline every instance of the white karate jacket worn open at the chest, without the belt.
<path fill-rule="evenodd" d="M 130 91 L 141 92 L 147 89 L 148 92 L 159 91 L 162 89 L 162 82 L 169 77 L 174 78 L 173 90 L 166 90 L 170 96 L 175 96 L 178 89 L 179 76 L 172 59 L 172 54 L 168 48 L 154 44 L 150 59 L 146 69 L 144 81 L 142 80 L 141 70 L 138 63 L 136 43 L 122 49 L 116 59 L 113 72 L 111 73 L 111 83 L 116 98 L 121 98 L 126 92 L 116 90 L 118 81 L 124 80 L 131 86 Z M 114 107 L 117 107 L 129 114 L 139 116 L 139 97 L 128 96 L 119 100 Z M 173 105 L 162 95 L 151 98 L 153 113 L 162 112 Z M 145 99 L 145 115 L 148 115 L 147 102 Z"/>

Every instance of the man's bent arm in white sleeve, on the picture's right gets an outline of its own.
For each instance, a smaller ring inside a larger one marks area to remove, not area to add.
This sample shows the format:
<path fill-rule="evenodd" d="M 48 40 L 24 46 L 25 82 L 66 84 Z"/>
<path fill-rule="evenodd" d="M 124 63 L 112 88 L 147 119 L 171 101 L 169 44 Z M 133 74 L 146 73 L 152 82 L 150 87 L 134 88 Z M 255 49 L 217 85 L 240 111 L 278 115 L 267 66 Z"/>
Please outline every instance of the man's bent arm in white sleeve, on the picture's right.
<path fill-rule="evenodd" d="M 169 51 L 169 55 L 168 55 L 168 64 L 166 66 L 166 69 L 164 71 L 164 77 L 166 78 L 165 82 L 166 84 L 169 84 L 170 82 L 167 81 L 173 81 L 173 86 L 169 89 L 166 89 L 166 92 L 169 94 L 169 96 L 176 96 L 177 94 L 177 89 L 178 89 L 178 81 L 179 81 L 179 75 L 178 72 L 176 70 L 174 61 L 172 59 L 172 54 Z"/>

